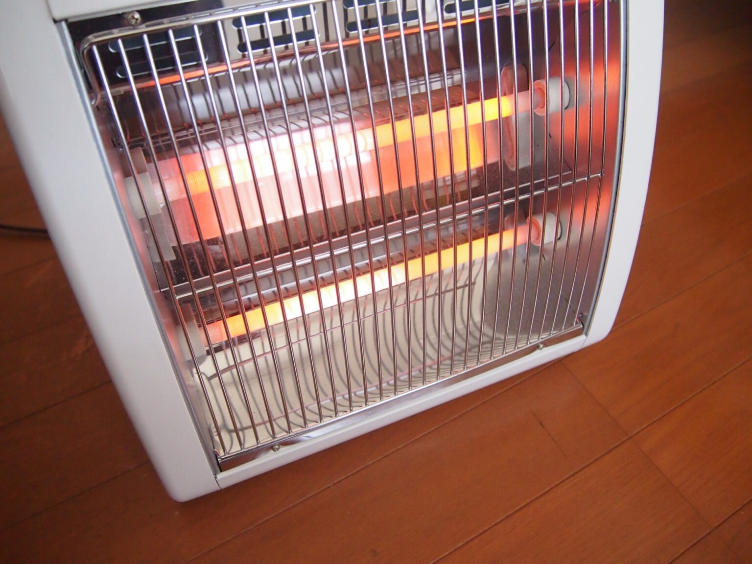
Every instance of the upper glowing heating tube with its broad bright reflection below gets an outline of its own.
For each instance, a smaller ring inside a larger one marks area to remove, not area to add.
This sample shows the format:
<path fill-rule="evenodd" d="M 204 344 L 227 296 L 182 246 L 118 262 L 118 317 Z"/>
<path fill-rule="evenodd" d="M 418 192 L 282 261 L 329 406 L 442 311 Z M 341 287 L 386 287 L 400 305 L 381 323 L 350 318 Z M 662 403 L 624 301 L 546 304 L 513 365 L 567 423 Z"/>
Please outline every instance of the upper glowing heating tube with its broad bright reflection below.
<path fill-rule="evenodd" d="M 550 92 L 558 92 L 561 83 L 558 78 L 551 78 L 548 83 Z M 564 86 L 564 108 L 569 105 L 569 88 Z M 546 88 L 542 80 L 536 80 L 532 87 L 533 111 L 545 114 Z M 517 111 L 521 114 L 529 112 L 530 93 L 520 92 L 517 97 Z M 548 101 L 550 112 L 559 111 L 559 96 L 550 96 Z M 186 202 L 186 190 L 193 199 L 199 226 L 203 238 L 214 238 L 221 235 L 217 213 L 214 209 L 212 194 L 209 193 L 210 182 L 214 188 L 214 197 L 220 210 L 223 226 L 226 232 L 239 232 L 242 222 L 238 214 L 237 203 L 230 187 L 232 180 L 238 185 L 238 196 L 241 211 L 247 229 L 262 225 L 261 209 L 269 223 L 276 223 L 284 219 L 290 220 L 300 217 L 304 210 L 308 214 L 324 209 L 338 208 L 341 205 L 359 202 L 363 196 L 366 199 L 378 198 L 383 191 L 390 194 L 398 190 L 400 183 L 405 190 L 415 186 L 416 177 L 420 183 L 434 179 L 434 172 L 439 178 L 450 174 L 462 174 L 469 165 L 478 168 L 484 161 L 496 162 L 499 158 L 499 139 L 494 135 L 496 128 L 491 127 L 487 135 L 487 150 L 484 154 L 483 139 L 484 126 L 499 120 L 499 99 L 487 99 L 472 102 L 467 106 L 467 125 L 465 126 L 465 107 L 454 106 L 449 110 L 451 131 L 447 127 L 447 111 L 435 111 L 423 114 L 411 120 L 397 120 L 394 123 L 384 123 L 376 129 L 359 129 L 355 133 L 350 130 L 349 123 L 335 123 L 335 136 L 329 125 L 314 126 L 313 131 L 307 128 L 292 133 L 293 147 L 287 135 L 274 135 L 268 141 L 265 138 L 251 138 L 248 140 L 253 168 L 259 183 L 261 202 L 256 197 L 253 186 L 250 162 L 244 144 L 228 147 L 230 166 L 226 165 L 222 150 L 205 150 L 204 156 L 208 161 L 205 169 L 199 153 L 180 156 L 183 170 L 186 171 L 186 187 L 180 175 L 180 168 L 176 159 L 166 159 L 159 162 L 162 177 L 165 178 L 165 190 L 171 202 L 174 203 L 177 228 L 180 239 L 184 242 L 198 241 L 198 230 L 193 222 L 193 215 Z M 514 114 L 514 96 L 503 96 L 501 99 L 501 116 L 510 117 Z M 484 121 L 485 118 L 485 121 Z M 435 154 L 418 142 L 417 171 L 413 158 L 413 129 L 417 140 L 427 138 L 434 131 Z M 465 139 L 465 130 L 468 139 Z M 394 137 L 397 145 L 394 144 Z M 269 144 L 274 153 L 271 159 Z M 336 151 L 335 151 L 336 143 Z M 453 147 L 453 160 L 450 162 L 450 144 Z M 469 154 L 465 153 L 469 145 Z M 381 170 L 376 168 L 374 151 L 381 150 Z M 314 150 L 315 148 L 315 150 Z M 362 190 L 359 182 L 359 170 L 356 153 L 360 157 L 360 173 L 362 174 Z M 339 156 L 339 161 L 335 158 Z M 316 162 L 318 158 L 320 174 L 323 181 L 323 198 L 317 180 Z M 400 171 L 396 168 L 399 159 Z M 434 162 L 436 168 L 434 170 Z M 283 188 L 284 208 L 287 217 L 283 217 L 282 206 L 277 196 L 277 185 L 274 177 L 274 165 L 277 167 L 278 179 Z M 294 171 L 296 166 L 301 173 L 302 185 L 298 186 Z M 343 185 L 337 171 L 341 170 Z M 230 171 L 232 170 L 232 177 Z M 383 182 L 376 179 L 381 173 Z M 300 196 L 302 191 L 303 197 Z"/>

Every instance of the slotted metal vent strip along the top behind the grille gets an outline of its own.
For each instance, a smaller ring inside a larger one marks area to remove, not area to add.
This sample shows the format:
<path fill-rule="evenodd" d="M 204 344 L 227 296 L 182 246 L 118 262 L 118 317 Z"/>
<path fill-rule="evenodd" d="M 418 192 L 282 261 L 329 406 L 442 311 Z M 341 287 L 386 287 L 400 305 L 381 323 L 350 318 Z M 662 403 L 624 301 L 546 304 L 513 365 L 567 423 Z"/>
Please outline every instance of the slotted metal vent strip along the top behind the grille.
<path fill-rule="evenodd" d="M 541 2 L 529 0 L 532 8 L 539 8 Z M 74 47 L 80 53 L 96 101 L 100 99 L 103 85 L 92 58 L 91 49 L 95 45 L 105 44 L 108 47 L 100 56 L 107 71 L 109 88 L 117 92 L 119 88 L 127 89 L 128 83 L 118 41 L 123 42 L 133 76 L 150 83 L 147 76 L 150 74 L 149 56 L 145 53 L 144 38 L 147 38 L 160 79 L 177 74 L 179 65 L 187 71 L 186 78 L 193 80 L 190 71 L 201 63 L 196 49 L 197 33 L 201 35 L 205 62 L 212 70 L 216 68 L 221 71 L 223 42 L 228 44 L 232 63 L 243 65 L 248 43 L 254 56 L 256 53 L 268 56 L 271 44 L 274 44 L 277 52 L 291 54 L 293 41 L 303 50 L 302 54 L 306 54 L 312 53 L 316 41 L 326 47 L 338 41 L 338 38 L 346 42 L 356 41 L 361 32 L 370 41 L 378 39 L 381 29 L 389 35 L 396 35 L 392 32 L 399 29 L 400 20 L 408 35 L 417 32 L 419 17 L 422 17 L 426 30 L 434 29 L 439 20 L 437 11 L 444 14 L 444 27 L 456 25 L 456 2 L 453 0 L 314 0 L 308 5 L 277 2 L 274 5 L 238 8 L 226 8 L 226 3 L 220 0 L 196 0 L 145 8 L 138 12 L 143 22 L 139 26 L 128 26 L 124 14 L 68 22 L 68 31 Z M 524 5 L 526 2 L 517 0 L 515 4 Z M 490 12 L 493 5 L 493 0 L 463 0 L 460 8 L 463 14 L 481 13 Z M 508 13 L 509 2 L 496 2 L 495 5 L 499 14 Z M 217 26 L 220 25 L 225 29 L 225 41 L 217 35 Z M 294 32 L 291 26 L 294 26 Z M 174 61 L 170 35 L 177 47 L 179 64 Z"/>

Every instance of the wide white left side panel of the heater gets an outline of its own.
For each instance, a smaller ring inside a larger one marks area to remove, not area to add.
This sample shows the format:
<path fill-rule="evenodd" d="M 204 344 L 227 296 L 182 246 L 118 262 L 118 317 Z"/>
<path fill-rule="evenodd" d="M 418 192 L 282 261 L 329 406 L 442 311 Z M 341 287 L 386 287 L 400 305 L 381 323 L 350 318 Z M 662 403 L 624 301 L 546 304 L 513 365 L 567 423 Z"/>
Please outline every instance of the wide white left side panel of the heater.
<path fill-rule="evenodd" d="M 68 280 L 165 487 L 174 499 L 217 490 L 44 0 L 5 6 L 0 104 Z"/>

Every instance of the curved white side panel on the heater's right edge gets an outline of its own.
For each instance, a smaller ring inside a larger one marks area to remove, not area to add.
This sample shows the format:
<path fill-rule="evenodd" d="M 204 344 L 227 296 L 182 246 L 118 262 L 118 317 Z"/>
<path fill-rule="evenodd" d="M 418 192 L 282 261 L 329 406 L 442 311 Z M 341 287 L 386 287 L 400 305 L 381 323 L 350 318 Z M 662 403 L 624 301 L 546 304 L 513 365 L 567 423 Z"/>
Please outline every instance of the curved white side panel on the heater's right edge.
<path fill-rule="evenodd" d="M 626 108 L 616 214 L 586 344 L 600 341 L 611 331 L 635 256 L 658 117 L 663 0 L 627 2 L 626 29 Z"/>

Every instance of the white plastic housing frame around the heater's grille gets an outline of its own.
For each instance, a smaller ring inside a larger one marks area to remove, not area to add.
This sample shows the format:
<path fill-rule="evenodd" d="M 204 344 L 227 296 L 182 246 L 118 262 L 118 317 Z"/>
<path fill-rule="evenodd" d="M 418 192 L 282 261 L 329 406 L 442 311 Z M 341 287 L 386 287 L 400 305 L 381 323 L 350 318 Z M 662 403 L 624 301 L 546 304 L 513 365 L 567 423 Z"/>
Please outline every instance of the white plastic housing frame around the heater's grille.
<path fill-rule="evenodd" d="M 187 500 L 228 487 L 573 353 L 608 334 L 626 285 L 647 193 L 663 41 L 663 2 L 622 4 L 626 98 L 619 172 L 605 266 L 584 334 L 539 347 L 451 386 L 432 387 L 412 401 L 391 402 L 328 432 L 311 432 L 307 440 L 270 449 L 224 471 L 202 439 L 193 404 L 177 378 L 174 343 L 160 322 L 162 306 L 149 290 L 153 274 L 138 260 L 139 243 L 117 198 L 90 93 L 59 25 L 143 6 L 120 0 L 25 0 L 5 6 L 0 19 L 3 117 L 112 381 L 171 497 Z M 550 223 L 546 241 L 553 237 Z"/>

